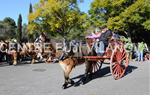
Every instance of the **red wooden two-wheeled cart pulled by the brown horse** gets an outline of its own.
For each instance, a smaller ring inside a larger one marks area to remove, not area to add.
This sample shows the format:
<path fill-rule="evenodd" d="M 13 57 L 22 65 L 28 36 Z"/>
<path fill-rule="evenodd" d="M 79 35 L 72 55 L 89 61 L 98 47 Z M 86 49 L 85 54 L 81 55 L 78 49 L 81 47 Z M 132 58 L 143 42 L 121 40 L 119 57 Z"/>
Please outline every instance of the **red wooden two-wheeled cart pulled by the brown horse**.
<path fill-rule="evenodd" d="M 94 39 L 87 39 L 87 44 L 92 47 Z M 109 60 L 110 71 L 115 80 L 124 76 L 129 64 L 128 54 L 124 48 L 124 43 L 121 40 L 111 40 L 103 56 L 83 56 L 86 61 L 93 62 L 92 72 L 99 70 L 105 61 Z"/>

